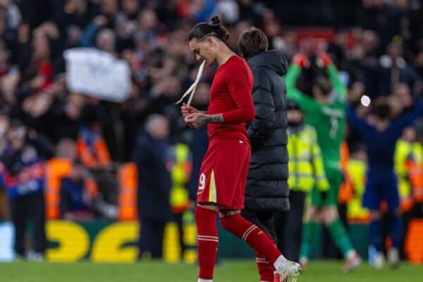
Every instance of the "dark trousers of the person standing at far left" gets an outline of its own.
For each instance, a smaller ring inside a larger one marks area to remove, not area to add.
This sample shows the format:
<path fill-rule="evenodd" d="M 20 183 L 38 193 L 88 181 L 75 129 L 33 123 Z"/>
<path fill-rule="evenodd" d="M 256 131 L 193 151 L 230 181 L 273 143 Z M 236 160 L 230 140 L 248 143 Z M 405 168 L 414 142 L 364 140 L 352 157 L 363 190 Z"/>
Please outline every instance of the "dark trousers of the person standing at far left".
<path fill-rule="evenodd" d="M 11 217 L 15 227 L 16 255 L 25 255 L 25 224 L 33 226 L 32 248 L 34 252 L 44 254 L 46 249 L 45 203 L 44 194 L 35 193 L 11 199 Z"/>

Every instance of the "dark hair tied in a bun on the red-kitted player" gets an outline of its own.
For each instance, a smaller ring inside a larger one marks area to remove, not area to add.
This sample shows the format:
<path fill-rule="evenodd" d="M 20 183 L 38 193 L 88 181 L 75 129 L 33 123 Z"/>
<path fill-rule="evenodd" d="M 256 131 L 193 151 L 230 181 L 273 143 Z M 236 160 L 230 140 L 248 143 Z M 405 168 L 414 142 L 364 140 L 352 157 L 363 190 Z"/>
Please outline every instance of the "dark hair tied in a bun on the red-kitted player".
<path fill-rule="evenodd" d="M 219 16 L 212 16 L 209 23 L 197 23 L 197 25 L 192 27 L 188 35 L 188 41 L 192 39 L 202 40 L 209 36 L 219 38 L 223 42 L 228 41 L 229 32 L 226 27 L 221 24 Z"/>

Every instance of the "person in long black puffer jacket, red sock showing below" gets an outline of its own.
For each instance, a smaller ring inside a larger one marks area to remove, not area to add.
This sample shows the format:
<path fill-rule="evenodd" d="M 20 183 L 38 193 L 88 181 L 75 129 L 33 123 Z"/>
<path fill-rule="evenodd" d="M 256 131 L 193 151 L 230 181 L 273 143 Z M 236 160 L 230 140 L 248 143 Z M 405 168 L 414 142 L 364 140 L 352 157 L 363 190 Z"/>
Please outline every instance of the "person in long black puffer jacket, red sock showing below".
<path fill-rule="evenodd" d="M 254 75 L 252 99 L 255 119 L 247 125 L 252 154 L 245 190 L 245 219 L 266 231 L 276 242 L 274 212 L 289 209 L 286 86 L 288 63 L 255 27 L 243 32 L 238 47 Z M 256 253 L 261 281 L 274 281 L 273 266 Z"/>

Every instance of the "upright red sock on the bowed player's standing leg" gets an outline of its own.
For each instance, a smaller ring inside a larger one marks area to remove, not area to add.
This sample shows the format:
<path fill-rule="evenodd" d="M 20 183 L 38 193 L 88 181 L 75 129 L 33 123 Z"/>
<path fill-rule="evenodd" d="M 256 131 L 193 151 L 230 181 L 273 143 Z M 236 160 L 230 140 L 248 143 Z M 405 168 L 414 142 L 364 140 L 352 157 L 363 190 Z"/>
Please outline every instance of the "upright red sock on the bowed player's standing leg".
<path fill-rule="evenodd" d="M 204 207 L 195 207 L 197 221 L 197 252 L 201 279 L 213 279 L 214 263 L 216 262 L 219 238 L 216 224 L 217 212 Z"/>

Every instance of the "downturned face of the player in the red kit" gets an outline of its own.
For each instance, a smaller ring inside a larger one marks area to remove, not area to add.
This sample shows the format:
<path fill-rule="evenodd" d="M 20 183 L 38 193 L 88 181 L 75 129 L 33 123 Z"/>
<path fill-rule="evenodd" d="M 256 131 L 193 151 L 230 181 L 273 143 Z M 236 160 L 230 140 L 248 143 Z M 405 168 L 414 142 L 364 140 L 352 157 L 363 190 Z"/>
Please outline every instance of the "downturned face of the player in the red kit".
<path fill-rule="evenodd" d="M 188 43 L 197 61 L 206 61 L 209 66 L 216 61 L 216 54 L 219 51 L 219 39 L 208 36 L 204 39 L 194 38 Z"/>

